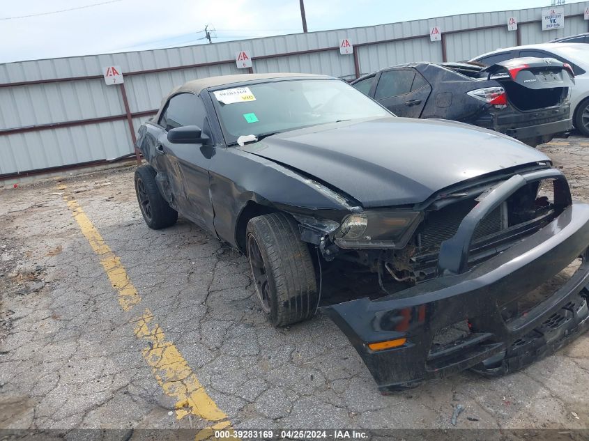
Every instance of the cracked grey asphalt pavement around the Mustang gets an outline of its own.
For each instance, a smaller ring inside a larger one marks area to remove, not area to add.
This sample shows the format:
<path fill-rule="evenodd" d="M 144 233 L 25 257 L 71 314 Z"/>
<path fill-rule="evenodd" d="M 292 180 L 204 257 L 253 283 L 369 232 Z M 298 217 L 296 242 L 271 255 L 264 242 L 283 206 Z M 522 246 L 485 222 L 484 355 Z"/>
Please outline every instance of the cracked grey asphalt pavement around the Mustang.
<path fill-rule="evenodd" d="M 589 139 L 540 149 L 563 167 L 574 198 L 589 201 Z M 153 343 L 121 308 L 67 197 L 120 259 L 141 297 L 135 313 L 151 311 L 234 428 L 452 428 L 457 405 L 458 428 L 588 427 L 588 336 L 510 376 L 466 372 L 382 396 L 326 316 L 284 329 L 266 322 L 244 256 L 182 218 L 148 229 L 134 170 L 0 188 L 0 428 L 215 424 L 181 414 L 162 387 L 147 358 Z"/>

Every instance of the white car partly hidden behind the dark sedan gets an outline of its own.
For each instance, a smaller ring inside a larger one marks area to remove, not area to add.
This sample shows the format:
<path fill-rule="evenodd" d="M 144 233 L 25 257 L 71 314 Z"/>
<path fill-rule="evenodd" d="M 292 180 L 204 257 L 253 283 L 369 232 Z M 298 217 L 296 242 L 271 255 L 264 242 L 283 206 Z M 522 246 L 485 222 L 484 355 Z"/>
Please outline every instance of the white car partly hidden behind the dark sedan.
<path fill-rule="evenodd" d="M 575 75 L 575 85 L 571 91 L 571 116 L 574 127 L 589 137 L 589 45 L 576 43 L 543 43 L 497 49 L 472 59 L 484 65 L 493 65 L 500 61 L 535 56 L 538 58 L 555 58 L 569 63 Z"/>

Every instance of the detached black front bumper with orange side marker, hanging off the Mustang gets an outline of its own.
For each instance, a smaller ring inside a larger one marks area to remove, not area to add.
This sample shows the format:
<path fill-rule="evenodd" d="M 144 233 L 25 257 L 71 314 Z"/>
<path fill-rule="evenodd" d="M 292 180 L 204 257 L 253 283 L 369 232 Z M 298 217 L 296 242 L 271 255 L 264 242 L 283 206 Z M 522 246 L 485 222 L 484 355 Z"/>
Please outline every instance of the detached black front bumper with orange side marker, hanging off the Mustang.
<path fill-rule="evenodd" d="M 456 235 L 443 242 L 438 274 L 418 286 L 371 301 L 368 298 L 324 307 L 374 376 L 381 392 L 417 385 L 473 368 L 496 375 L 521 369 L 564 346 L 589 327 L 589 205 L 567 207 L 537 233 L 473 270 L 465 268 L 478 222 L 519 187 L 533 180 L 560 180 L 554 169 L 517 175 L 490 192 L 464 218 Z M 558 291 L 524 316 L 508 322 L 500 305 L 533 291 L 581 256 L 581 266 Z M 468 320 L 471 332 L 445 346 L 432 347 L 436 333 Z M 406 341 L 387 350 L 370 343 Z"/>

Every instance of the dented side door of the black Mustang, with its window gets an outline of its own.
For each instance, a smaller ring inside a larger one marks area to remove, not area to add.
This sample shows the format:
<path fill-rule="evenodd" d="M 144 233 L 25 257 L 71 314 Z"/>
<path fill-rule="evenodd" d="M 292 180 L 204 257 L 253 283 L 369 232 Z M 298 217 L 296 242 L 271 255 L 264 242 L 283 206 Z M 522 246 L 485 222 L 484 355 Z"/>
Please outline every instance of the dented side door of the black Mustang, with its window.
<path fill-rule="evenodd" d="M 204 144 L 175 144 L 168 141 L 169 130 L 186 125 L 197 125 L 203 134 L 211 137 L 208 130 L 206 109 L 199 96 L 179 93 L 170 98 L 162 116 L 162 134 L 156 151 L 167 158 L 170 186 L 176 192 L 179 211 L 192 222 L 209 231 L 213 228 L 213 205 L 208 191 L 213 142 Z"/>

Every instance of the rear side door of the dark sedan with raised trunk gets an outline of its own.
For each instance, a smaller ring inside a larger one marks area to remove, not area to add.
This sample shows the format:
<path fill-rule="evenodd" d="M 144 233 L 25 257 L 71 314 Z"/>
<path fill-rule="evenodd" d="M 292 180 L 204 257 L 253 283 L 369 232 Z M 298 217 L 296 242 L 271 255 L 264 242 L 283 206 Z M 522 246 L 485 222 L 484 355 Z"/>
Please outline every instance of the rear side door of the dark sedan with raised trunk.
<path fill-rule="evenodd" d="M 397 116 L 419 118 L 431 86 L 413 68 L 385 70 L 378 78 L 374 99 Z"/>

